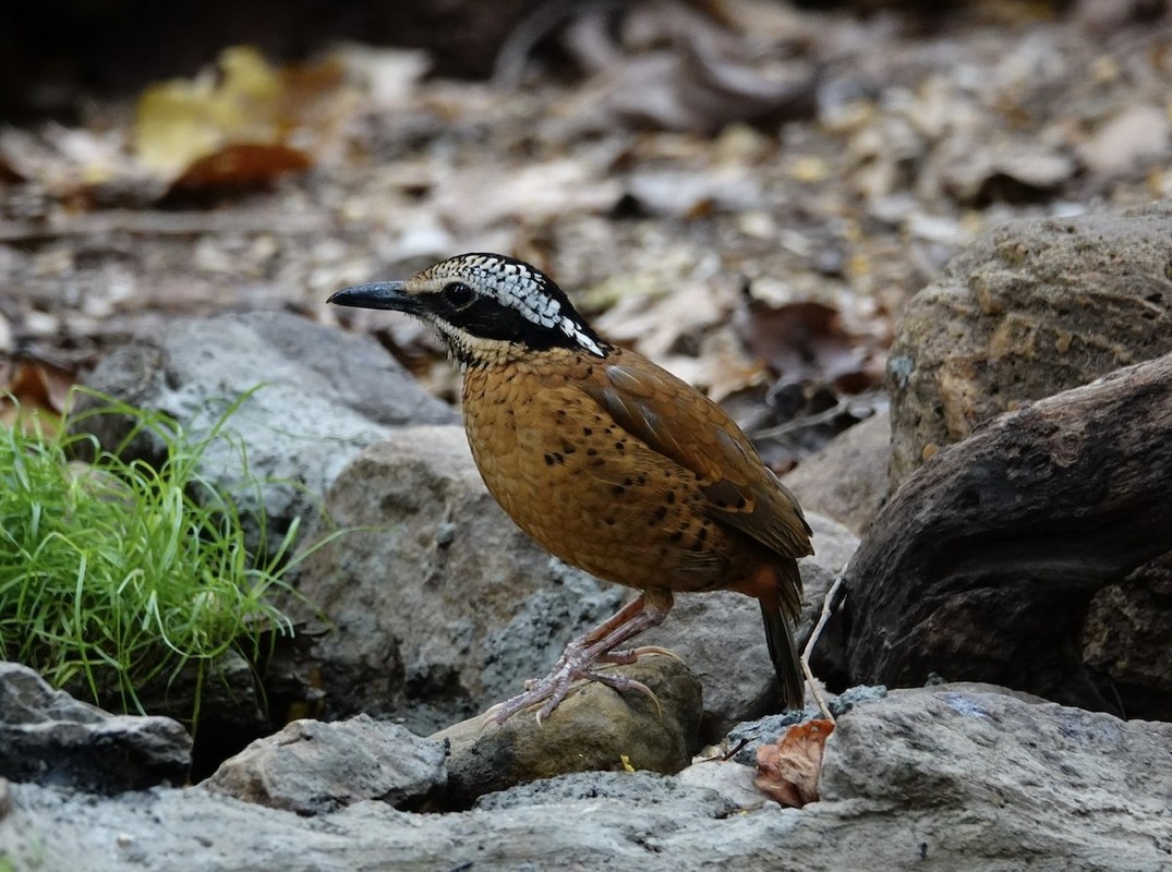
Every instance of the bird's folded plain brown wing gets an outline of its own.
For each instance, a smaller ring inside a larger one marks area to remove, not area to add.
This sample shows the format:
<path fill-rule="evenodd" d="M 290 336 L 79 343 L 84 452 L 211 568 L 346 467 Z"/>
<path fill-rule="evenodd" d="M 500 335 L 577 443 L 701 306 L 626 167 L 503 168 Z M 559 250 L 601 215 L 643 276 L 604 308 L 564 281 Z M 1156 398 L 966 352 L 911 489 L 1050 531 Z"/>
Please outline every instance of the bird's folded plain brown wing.
<path fill-rule="evenodd" d="M 783 557 L 813 553 L 810 526 L 793 495 L 729 416 L 633 352 L 616 356 L 601 367 L 601 377 L 584 386 L 594 402 L 652 450 L 693 472 L 713 517 Z"/>

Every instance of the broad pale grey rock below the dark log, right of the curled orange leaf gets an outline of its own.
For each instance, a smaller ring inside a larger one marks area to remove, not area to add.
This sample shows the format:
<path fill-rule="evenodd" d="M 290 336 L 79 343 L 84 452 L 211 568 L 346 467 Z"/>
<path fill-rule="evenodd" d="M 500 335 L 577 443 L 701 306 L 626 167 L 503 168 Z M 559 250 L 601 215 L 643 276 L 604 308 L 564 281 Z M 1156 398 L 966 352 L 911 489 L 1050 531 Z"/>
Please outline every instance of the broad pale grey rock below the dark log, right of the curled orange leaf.
<path fill-rule="evenodd" d="M 838 722 L 822 799 L 933 820 L 901 827 L 908 860 L 1156 868 L 1172 857 L 1170 740 L 1172 724 L 1002 694 L 897 692 Z"/>

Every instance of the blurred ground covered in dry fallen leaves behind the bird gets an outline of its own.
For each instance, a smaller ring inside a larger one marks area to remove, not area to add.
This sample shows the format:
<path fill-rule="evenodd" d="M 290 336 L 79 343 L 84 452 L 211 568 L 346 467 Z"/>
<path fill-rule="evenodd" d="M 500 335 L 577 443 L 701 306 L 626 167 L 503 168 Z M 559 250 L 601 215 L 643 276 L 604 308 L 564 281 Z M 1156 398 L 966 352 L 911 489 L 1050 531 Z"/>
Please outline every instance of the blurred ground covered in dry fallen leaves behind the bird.
<path fill-rule="evenodd" d="M 992 6 L 552 5 L 484 81 L 422 49 L 236 46 L 5 125 L 0 388 L 60 408 L 138 331 L 292 309 L 451 397 L 422 327 L 325 300 L 498 251 L 792 464 L 885 402 L 895 320 L 976 233 L 1172 195 L 1167 6 Z"/>

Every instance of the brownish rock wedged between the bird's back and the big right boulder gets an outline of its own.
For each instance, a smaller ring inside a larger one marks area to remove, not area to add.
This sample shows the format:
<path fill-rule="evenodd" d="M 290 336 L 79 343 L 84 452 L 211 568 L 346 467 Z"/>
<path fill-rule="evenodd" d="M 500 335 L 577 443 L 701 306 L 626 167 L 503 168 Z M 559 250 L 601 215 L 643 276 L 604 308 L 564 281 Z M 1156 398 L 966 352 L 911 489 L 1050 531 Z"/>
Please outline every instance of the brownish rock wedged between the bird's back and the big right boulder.
<path fill-rule="evenodd" d="M 881 409 L 803 458 L 783 476 L 806 512 L 822 512 L 856 536 L 874 520 L 887 498 L 891 415 Z"/>

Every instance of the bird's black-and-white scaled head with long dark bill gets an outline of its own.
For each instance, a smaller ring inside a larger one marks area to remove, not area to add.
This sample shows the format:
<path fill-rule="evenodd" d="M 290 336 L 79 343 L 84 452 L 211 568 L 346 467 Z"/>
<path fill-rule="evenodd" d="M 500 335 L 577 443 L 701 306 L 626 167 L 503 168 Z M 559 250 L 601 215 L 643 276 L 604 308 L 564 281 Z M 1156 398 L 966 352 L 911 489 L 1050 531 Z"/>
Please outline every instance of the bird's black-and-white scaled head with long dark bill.
<path fill-rule="evenodd" d="M 329 302 L 422 318 L 465 368 L 551 348 L 598 357 L 611 350 L 552 279 L 503 254 L 461 254 L 407 281 L 342 288 Z"/>

